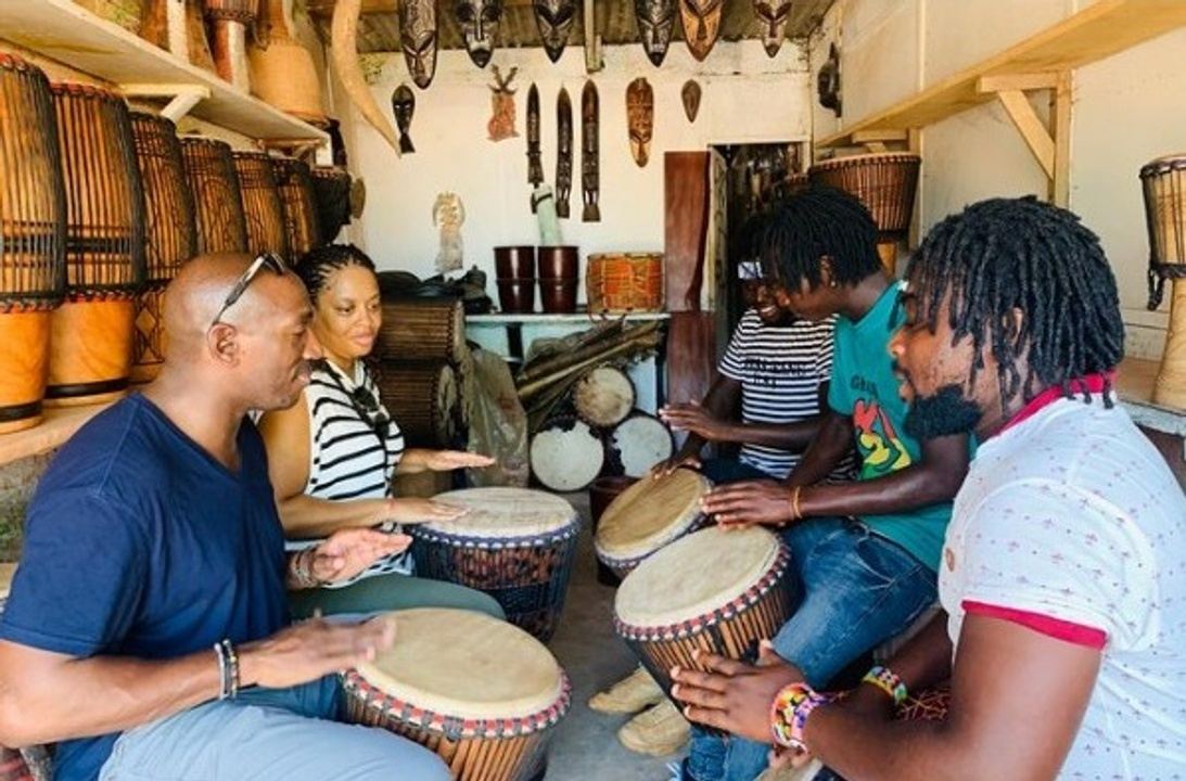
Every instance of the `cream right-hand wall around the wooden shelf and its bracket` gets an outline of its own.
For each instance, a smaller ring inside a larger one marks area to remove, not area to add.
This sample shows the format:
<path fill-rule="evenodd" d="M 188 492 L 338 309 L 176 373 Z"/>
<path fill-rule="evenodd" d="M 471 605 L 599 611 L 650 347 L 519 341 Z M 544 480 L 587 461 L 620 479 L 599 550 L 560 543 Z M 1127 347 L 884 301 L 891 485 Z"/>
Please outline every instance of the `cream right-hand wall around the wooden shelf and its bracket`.
<path fill-rule="evenodd" d="M 1092 0 L 839 0 L 812 39 L 812 73 L 840 40 L 843 122 L 884 109 L 920 87 L 1008 47 Z M 1095 230 L 1116 273 L 1129 354 L 1159 358 L 1167 303 L 1144 311 L 1148 243 L 1137 171 L 1186 152 L 1186 30 L 1077 70 L 1073 75 L 1071 209 Z M 1040 95 L 1040 94 L 1039 94 Z M 1045 97 L 1034 105 L 1045 113 Z M 817 136 L 835 132 L 812 100 Z M 1046 178 L 995 103 L 923 132 L 923 230 L 964 205 L 1037 193 Z"/>

